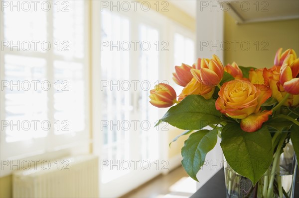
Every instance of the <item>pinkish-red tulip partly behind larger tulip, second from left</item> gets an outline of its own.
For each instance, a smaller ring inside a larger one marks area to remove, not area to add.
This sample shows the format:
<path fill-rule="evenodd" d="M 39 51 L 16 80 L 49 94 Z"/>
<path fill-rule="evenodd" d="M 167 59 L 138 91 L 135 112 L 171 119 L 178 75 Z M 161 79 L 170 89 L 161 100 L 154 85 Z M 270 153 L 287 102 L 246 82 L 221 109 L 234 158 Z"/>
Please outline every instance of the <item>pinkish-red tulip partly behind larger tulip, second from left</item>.
<path fill-rule="evenodd" d="M 180 86 L 186 86 L 193 78 L 190 72 L 191 68 L 191 66 L 188 66 L 186 64 L 182 64 L 181 66 L 175 66 L 175 72 L 172 73 L 173 81 Z"/>

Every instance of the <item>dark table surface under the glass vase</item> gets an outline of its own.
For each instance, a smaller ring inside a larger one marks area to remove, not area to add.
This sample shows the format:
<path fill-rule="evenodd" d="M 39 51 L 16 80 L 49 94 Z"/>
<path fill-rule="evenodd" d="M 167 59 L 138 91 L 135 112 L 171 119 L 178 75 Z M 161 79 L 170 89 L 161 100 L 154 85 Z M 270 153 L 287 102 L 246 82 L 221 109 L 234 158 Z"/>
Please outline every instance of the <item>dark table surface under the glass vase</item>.
<path fill-rule="evenodd" d="M 205 183 L 191 198 L 225 198 L 224 170 L 218 171 L 207 183 Z M 297 167 L 295 195 L 299 198 L 299 170 Z"/>

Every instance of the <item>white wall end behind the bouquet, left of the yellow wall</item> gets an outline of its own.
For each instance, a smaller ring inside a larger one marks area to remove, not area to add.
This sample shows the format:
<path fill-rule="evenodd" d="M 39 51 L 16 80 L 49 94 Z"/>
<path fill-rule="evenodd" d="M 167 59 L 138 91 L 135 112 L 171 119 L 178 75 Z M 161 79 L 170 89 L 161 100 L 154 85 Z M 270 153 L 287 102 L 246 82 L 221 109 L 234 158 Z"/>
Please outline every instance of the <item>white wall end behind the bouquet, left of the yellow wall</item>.
<path fill-rule="evenodd" d="M 224 13 L 221 9 L 217 11 L 217 7 L 214 5 L 216 5 L 216 1 L 198 0 L 196 2 L 196 56 L 210 59 L 215 54 L 223 63 L 223 51 L 217 43 L 223 41 Z M 206 155 L 205 164 L 196 175 L 200 182 L 197 183 L 197 189 L 204 185 L 223 166 L 220 141 L 221 139 L 218 138 L 215 148 Z"/>

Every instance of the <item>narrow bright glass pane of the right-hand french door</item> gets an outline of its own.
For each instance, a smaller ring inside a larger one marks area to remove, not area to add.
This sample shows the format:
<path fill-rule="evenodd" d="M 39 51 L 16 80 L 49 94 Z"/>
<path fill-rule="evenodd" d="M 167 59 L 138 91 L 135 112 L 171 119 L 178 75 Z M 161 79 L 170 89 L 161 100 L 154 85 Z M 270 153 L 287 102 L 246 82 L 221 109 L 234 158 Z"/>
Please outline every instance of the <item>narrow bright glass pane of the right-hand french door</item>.
<path fill-rule="evenodd" d="M 156 50 L 156 42 L 159 42 L 159 34 L 155 28 L 148 25 L 141 24 L 139 28 L 140 41 L 148 41 L 151 45 L 149 50 L 147 47 L 141 49 L 140 58 L 140 79 L 141 82 L 154 83 L 158 79 L 158 67 L 159 67 L 159 53 Z M 149 89 L 154 85 L 145 85 L 141 89 L 141 97 L 139 100 L 139 113 L 141 114 L 141 158 L 149 161 L 158 159 L 158 131 L 155 130 L 154 123 L 158 118 L 157 108 L 153 108 L 149 103 Z"/>

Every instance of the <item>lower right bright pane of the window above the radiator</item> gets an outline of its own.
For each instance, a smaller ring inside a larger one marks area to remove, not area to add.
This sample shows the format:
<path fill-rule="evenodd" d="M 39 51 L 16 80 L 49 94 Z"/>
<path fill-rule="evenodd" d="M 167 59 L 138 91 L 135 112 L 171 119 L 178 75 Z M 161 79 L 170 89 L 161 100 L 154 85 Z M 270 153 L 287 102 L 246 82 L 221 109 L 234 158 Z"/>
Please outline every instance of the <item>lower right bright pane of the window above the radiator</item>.
<path fill-rule="evenodd" d="M 54 62 L 55 134 L 85 128 L 83 64 Z"/>

